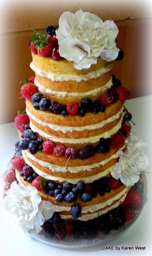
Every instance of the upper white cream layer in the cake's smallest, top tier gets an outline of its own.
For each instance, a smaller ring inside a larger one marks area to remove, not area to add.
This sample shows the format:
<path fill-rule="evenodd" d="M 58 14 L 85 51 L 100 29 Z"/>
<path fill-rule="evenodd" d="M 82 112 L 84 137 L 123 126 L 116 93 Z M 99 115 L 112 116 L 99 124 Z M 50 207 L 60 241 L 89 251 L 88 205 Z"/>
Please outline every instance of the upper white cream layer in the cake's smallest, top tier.
<path fill-rule="evenodd" d="M 30 63 L 30 68 L 32 68 L 33 72 L 35 72 L 37 75 L 40 75 L 41 77 L 46 77 L 48 79 L 51 79 L 52 81 L 87 81 L 89 79 L 96 79 L 102 74 L 105 74 L 109 70 L 111 70 L 113 65 L 110 63 L 105 68 L 100 68 L 99 70 L 95 70 L 93 72 L 90 72 L 86 75 L 74 75 L 74 74 L 51 74 L 50 72 L 46 72 L 44 70 L 39 70 L 37 66 L 33 63 Z"/>

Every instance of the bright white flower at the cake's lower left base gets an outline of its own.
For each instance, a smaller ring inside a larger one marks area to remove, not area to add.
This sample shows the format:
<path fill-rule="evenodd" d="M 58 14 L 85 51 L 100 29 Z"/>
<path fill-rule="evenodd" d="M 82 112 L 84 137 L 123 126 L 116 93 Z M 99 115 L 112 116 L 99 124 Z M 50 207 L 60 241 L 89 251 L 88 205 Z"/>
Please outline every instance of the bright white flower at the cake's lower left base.
<path fill-rule="evenodd" d="M 39 233 L 46 219 L 50 219 L 55 212 L 55 207 L 49 201 L 41 201 L 37 189 L 32 186 L 24 187 L 17 182 L 12 182 L 6 192 L 5 208 L 10 211 L 15 221 L 24 231 L 35 228 Z"/>

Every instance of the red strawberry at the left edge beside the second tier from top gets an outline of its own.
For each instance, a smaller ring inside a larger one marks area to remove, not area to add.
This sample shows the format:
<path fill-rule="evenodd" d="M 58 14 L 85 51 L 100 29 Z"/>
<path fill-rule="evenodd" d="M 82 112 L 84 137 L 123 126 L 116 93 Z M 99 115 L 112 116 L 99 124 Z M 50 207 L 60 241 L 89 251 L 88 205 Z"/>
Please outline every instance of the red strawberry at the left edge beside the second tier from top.
<path fill-rule="evenodd" d="M 30 118 L 26 113 L 19 113 L 14 119 L 15 128 L 19 130 L 19 132 L 24 132 L 25 128 L 24 126 L 26 124 L 30 124 Z"/>

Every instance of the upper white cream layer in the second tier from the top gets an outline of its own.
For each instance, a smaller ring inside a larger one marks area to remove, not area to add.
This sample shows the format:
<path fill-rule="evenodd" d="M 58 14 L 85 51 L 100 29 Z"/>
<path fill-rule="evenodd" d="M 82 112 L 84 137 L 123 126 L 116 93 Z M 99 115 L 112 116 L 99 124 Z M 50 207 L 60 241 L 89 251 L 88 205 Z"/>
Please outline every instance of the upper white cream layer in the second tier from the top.
<path fill-rule="evenodd" d="M 122 108 L 119 110 L 119 112 L 116 113 L 116 115 L 113 115 L 112 117 L 109 117 L 108 119 L 101 121 L 100 123 L 90 124 L 90 125 L 81 126 L 81 127 L 79 127 L 79 126 L 64 126 L 64 125 L 61 126 L 61 125 L 57 125 L 57 124 L 43 122 L 40 119 L 38 119 L 37 117 L 35 117 L 35 115 L 32 115 L 32 113 L 30 113 L 30 111 L 28 111 L 27 108 L 26 108 L 26 113 L 36 123 L 46 126 L 48 128 L 51 128 L 52 130 L 55 130 L 57 132 L 61 131 L 63 133 L 66 133 L 66 132 L 73 132 L 73 131 L 82 132 L 84 130 L 95 130 L 95 129 L 102 128 L 106 124 L 111 123 L 111 122 L 115 121 L 116 119 L 119 119 L 123 110 L 124 110 L 124 106 L 122 106 Z M 32 123 L 32 121 L 31 121 L 31 123 Z"/>

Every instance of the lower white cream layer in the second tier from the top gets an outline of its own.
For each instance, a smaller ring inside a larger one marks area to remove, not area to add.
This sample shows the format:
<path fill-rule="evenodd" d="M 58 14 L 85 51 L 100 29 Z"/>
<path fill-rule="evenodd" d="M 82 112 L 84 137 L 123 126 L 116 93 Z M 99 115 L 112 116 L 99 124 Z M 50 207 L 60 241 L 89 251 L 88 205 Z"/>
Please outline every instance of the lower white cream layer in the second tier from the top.
<path fill-rule="evenodd" d="M 43 132 L 42 130 L 39 130 L 39 128 L 37 128 L 34 124 L 32 124 L 32 122 L 30 122 L 30 127 L 32 129 L 33 132 L 37 132 L 39 133 L 39 135 L 41 135 L 42 137 L 52 140 L 54 142 L 58 142 L 58 143 L 69 143 L 69 144 L 84 144 L 84 143 L 97 143 L 100 139 L 100 137 L 106 139 L 109 138 L 111 135 L 115 134 L 118 132 L 118 130 L 121 128 L 122 125 L 122 118 L 123 116 L 120 118 L 119 123 L 117 123 L 111 130 L 108 130 L 102 134 L 99 135 L 95 135 L 95 136 L 91 136 L 91 137 L 84 137 L 84 138 L 78 138 L 78 139 L 71 139 L 71 138 L 62 138 L 62 137 L 56 137 L 53 135 L 49 135 L 46 132 Z"/>

